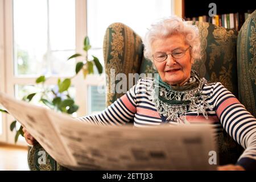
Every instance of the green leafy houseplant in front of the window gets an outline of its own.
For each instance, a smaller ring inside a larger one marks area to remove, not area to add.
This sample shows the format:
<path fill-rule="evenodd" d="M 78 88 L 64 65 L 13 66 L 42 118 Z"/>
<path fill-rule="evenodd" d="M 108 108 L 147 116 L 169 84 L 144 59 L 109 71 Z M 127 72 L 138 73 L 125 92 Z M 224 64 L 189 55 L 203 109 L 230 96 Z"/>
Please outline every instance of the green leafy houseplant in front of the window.
<path fill-rule="evenodd" d="M 70 78 L 64 78 L 61 80 L 60 78 L 57 81 L 57 84 L 53 88 L 46 88 L 45 82 L 47 78 L 43 75 L 38 78 L 36 78 L 36 84 L 42 84 L 42 90 L 37 93 L 30 93 L 27 96 L 24 96 L 22 98 L 23 101 L 30 102 L 36 95 L 40 96 L 40 102 L 42 102 L 44 105 L 48 106 L 50 109 L 53 109 L 55 111 L 60 111 L 61 113 L 67 113 L 67 114 L 73 114 L 78 109 L 79 106 L 75 104 L 74 99 L 69 94 L 69 88 L 72 84 L 72 79 L 77 76 L 77 74 L 82 71 L 84 78 L 88 74 L 92 74 L 94 65 L 96 66 L 98 72 L 102 73 L 102 65 L 98 58 L 96 56 L 93 56 L 92 60 L 87 59 L 87 52 L 91 48 L 89 43 L 88 36 L 84 39 L 84 52 L 85 52 L 85 60 L 79 61 L 76 63 L 76 75 Z M 82 56 L 80 53 L 75 53 L 75 55 L 72 55 L 68 58 L 68 60 L 73 59 L 75 57 Z M 8 113 L 4 109 L 0 109 L 0 111 Z M 16 127 L 16 121 L 13 121 L 10 125 L 10 130 L 13 131 L 16 130 L 15 135 L 15 143 L 18 140 L 19 135 L 22 135 L 24 137 L 24 133 L 22 131 L 23 127 L 20 126 L 19 128 Z"/>

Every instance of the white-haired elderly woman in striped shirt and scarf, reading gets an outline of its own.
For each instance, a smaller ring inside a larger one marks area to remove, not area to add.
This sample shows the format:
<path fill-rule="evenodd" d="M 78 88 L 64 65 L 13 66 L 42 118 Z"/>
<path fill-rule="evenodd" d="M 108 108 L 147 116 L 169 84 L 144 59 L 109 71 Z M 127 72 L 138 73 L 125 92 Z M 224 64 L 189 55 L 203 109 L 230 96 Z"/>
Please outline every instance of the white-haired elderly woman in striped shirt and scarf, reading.
<path fill-rule="evenodd" d="M 144 38 L 144 56 L 154 63 L 159 75 L 142 78 L 102 113 L 80 120 L 97 125 L 134 121 L 137 127 L 212 123 L 245 148 L 236 165 L 218 169 L 256 169 L 256 119 L 220 82 L 208 84 L 191 69 L 200 58 L 196 26 L 176 16 L 153 24 Z M 33 144 L 34 138 L 26 129 L 24 133 Z"/>

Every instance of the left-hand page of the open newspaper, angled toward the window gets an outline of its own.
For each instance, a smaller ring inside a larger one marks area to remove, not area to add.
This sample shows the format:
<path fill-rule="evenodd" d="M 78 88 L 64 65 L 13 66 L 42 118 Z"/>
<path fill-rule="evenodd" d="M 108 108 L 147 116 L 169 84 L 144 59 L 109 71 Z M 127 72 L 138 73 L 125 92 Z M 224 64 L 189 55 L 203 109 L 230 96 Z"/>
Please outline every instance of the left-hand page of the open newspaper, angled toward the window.
<path fill-rule="evenodd" d="M 71 156 L 67 154 L 60 136 L 47 116 L 48 109 L 15 100 L 0 92 L 0 104 L 20 122 L 27 131 L 57 162 L 63 165 L 73 165 Z M 63 158 L 63 156 L 65 156 Z"/>

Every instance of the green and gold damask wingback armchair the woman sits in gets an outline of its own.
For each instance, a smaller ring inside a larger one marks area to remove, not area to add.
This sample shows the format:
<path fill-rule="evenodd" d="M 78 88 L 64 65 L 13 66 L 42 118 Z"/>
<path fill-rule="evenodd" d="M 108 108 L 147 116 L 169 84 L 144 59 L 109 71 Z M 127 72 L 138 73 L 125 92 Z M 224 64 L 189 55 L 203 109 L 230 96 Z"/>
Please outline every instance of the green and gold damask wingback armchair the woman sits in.
<path fill-rule="evenodd" d="M 234 93 L 243 105 L 256 116 L 256 11 L 243 24 L 239 34 L 210 23 L 189 22 L 200 30 L 201 60 L 197 60 L 193 69 L 210 82 L 220 81 Z M 104 60 L 106 75 L 110 69 L 115 74 L 154 73 L 152 63 L 143 56 L 143 44 L 140 36 L 122 23 L 113 23 L 104 37 Z M 249 71 L 249 72 L 248 72 Z M 117 81 L 118 82 L 118 81 Z M 115 82 L 115 84 L 117 84 Z M 106 106 L 112 104 L 122 94 L 111 93 L 107 81 Z M 129 85 L 127 85 L 129 89 Z M 47 156 L 47 164 L 38 164 L 38 152 L 44 150 L 40 144 L 32 147 L 28 154 L 31 170 L 65 170 Z M 242 147 L 236 144 L 225 131 L 218 135 L 220 164 L 236 163 Z"/>

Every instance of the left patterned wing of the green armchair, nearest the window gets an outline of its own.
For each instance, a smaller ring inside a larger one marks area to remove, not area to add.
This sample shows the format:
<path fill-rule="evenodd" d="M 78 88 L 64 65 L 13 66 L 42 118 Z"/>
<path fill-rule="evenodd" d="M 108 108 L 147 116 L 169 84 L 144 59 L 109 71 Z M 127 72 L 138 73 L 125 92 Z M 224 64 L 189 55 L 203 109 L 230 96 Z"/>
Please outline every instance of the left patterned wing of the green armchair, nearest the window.
<path fill-rule="evenodd" d="M 109 106 L 123 93 L 111 92 L 119 82 L 113 75 L 139 73 L 142 63 L 143 46 L 141 37 L 123 23 L 111 24 L 104 37 L 104 62 L 106 71 L 106 105 Z M 127 82 L 127 89 L 128 82 Z"/>

